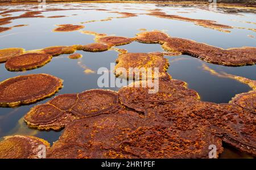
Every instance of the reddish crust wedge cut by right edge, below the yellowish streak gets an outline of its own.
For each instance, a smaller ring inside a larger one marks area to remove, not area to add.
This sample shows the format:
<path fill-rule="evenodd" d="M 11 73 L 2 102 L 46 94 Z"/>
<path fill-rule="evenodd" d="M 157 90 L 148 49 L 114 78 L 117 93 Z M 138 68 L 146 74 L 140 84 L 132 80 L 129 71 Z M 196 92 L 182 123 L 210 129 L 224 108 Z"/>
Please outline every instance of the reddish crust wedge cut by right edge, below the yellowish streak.
<path fill-rule="evenodd" d="M 230 103 L 256 113 L 256 91 L 238 94 L 230 101 Z"/>

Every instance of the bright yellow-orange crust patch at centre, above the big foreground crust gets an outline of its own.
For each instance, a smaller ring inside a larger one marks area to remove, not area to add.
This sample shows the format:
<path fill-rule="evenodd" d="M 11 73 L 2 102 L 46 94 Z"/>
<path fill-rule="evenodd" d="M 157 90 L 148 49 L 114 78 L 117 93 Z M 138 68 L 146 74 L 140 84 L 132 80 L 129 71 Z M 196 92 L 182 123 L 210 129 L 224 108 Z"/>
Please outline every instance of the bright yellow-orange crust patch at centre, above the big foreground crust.
<path fill-rule="evenodd" d="M 155 67 L 159 68 L 159 77 L 166 76 L 166 71 L 168 69 L 169 63 L 168 59 L 163 58 L 163 56 L 155 56 L 153 54 L 147 53 L 126 53 L 119 54 L 117 58 L 117 65 L 115 66 L 115 75 L 122 75 L 126 78 L 142 78 L 142 75 L 135 75 L 129 73 L 129 68 L 144 68 L 144 69 L 154 69 Z M 123 73 L 122 69 L 126 69 L 126 73 Z M 139 77 L 138 77 L 139 76 Z M 145 75 L 146 76 L 146 75 Z M 154 76 L 154 71 L 152 71 L 152 76 Z"/>

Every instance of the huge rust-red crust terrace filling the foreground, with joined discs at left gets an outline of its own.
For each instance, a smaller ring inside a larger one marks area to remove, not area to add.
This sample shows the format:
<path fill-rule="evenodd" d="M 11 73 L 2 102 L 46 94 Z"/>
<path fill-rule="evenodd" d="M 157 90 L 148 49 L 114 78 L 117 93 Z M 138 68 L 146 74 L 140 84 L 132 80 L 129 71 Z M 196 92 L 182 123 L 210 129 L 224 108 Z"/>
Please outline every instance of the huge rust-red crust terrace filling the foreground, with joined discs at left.
<path fill-rule="evenodd" d="M 65 126 L 47 158 L 208 158 L 209 145 L 221 154 L 222 141 L 256 155 L 255 111 L 200 101 L 180 80 L 159 80 L 156 94 L 142 83 L 59 95 L 24 119 L 38 129 Z"/>

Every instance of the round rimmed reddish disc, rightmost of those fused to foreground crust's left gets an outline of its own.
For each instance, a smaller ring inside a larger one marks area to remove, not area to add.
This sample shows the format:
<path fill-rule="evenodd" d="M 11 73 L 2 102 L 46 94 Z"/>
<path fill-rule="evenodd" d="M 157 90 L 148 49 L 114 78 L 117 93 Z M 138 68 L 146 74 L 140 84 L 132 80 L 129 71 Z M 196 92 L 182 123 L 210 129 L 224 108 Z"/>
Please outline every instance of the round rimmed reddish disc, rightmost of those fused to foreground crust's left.
<path fill-rule="evenodd" d="M 71 112 L 78 117 L 96 116 L 108 113 L 118 105 L 118 96 L 109 90 L 88 90 L 78 95 Z"/>

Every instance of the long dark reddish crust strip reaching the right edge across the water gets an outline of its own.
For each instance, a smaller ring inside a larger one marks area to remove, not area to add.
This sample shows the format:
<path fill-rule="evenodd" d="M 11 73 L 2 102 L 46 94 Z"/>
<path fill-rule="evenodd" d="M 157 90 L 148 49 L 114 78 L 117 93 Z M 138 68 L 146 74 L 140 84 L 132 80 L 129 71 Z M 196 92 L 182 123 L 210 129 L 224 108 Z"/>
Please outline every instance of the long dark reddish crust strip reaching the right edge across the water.
<path fill-rule="evenodd" d="M 243 47 L 221 49 L 192 40 L 170 37 L 162 47 L 166 50 L 181 52 L 210 63 L 226 66 L 253 65 L 256 63 L 256 48 Z"/>

